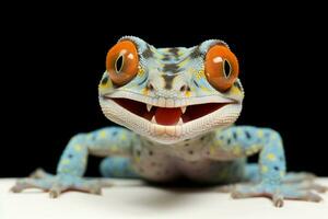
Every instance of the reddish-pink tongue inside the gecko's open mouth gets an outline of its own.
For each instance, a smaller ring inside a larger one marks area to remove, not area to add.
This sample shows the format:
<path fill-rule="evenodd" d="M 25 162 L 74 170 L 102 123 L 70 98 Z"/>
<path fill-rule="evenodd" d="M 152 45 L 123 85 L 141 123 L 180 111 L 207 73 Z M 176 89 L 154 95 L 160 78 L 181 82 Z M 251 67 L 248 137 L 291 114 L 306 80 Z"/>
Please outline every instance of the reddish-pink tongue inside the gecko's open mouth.
<path fill-rule="evenodd" d="M 176 125 L 181 116 L 180 108 L 157 107 L 155 112 L 156 123 L 164 126 Z"/>

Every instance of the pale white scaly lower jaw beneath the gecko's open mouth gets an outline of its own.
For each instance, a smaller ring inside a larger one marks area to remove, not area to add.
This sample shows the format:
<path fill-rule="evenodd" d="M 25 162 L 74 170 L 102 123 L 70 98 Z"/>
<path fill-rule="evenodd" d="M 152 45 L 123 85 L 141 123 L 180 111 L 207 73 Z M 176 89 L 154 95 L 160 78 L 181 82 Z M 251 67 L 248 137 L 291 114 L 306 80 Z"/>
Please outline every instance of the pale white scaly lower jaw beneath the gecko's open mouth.
<path fill-rule="evenodd" d="M 239 103 L 231 103 L 208 115 L 188 123 L 178 123 L 177 125 L 165 126 L 159 125 L 154 123 L 154 120 L 148 120 L 133 114 L 132 112 L 117 104 L 112 99 L 101 97 L 99 101 L 103 112 L 107 118 L 117 124 L 126 126 L 127 128 L 132 129 L 140 135 L 159 138 L 157 141 L 161 141 L 161 138 L 180 139 L 184 136 L 192 137 L 192 135 L 196 136 L 199 132 L 204 130 L 208 131 L 210 128 L 216 126 L 230 125 L 235 122 L 242 110 L 242 105 Z"/>

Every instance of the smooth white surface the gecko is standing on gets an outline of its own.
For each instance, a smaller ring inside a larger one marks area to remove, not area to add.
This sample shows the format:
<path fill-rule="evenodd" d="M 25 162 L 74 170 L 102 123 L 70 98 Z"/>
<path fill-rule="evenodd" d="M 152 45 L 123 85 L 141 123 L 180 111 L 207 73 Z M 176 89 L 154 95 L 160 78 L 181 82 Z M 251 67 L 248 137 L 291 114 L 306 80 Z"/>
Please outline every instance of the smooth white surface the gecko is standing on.
<path fill-rule="evenodd" d="M 102 196 L 69 192 L 58 199 L 36 189 L 13 194 L 14 180 L 0 180 L 0 219 L 117 218 L 328 218 L 328 193 L 321 203 L 285 200 L 274 208 L 267 198 L 232 199 L 212 188 L 159 188 L 139 181 L 113 181 Z M 328 185 L 328 178 L 319 183 Z"/>

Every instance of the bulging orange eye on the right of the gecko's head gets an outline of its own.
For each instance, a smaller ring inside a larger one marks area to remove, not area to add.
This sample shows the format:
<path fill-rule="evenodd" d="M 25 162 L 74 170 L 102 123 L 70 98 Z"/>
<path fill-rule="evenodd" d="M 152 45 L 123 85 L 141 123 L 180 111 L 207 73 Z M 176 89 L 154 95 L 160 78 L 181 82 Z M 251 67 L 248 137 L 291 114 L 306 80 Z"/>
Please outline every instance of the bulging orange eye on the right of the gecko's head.
<path fill-rule="evenodd" d="M 225 46 L 216 45 L 206 57 L 206 76 L 216 90 L 224 92 L 235 82 L 239 73 L 236 56 Z"/>

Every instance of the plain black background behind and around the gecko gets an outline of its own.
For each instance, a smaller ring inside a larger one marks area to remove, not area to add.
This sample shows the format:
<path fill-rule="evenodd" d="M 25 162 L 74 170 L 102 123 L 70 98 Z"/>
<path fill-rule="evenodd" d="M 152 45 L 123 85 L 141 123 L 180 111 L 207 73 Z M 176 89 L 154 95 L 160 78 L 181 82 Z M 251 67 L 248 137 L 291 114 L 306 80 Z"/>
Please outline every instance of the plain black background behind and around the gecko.
<path fill-rule="evenodd" d="M 289 170 L 328 175 L 327 43 L 319 13 L 311 20 L 303 11 L 232 20 L 219 12 L 174 16 L 172 10 L 157 21 L 160 12 L 50 8 L 7 20 L 0 176 L 25 176 L 38 166 L 55 172 L 71 136 L 112 125 L 99 110 L 97 84 L 107 50 L 124 35 L 156 47 L 225 41 L 239 59 L 246 92 L 237 124 L 279 130 Z M 86 175 L 98 175 L 98 162 L 90 159 Z"/>

